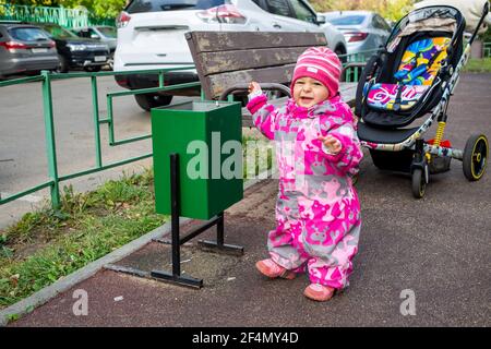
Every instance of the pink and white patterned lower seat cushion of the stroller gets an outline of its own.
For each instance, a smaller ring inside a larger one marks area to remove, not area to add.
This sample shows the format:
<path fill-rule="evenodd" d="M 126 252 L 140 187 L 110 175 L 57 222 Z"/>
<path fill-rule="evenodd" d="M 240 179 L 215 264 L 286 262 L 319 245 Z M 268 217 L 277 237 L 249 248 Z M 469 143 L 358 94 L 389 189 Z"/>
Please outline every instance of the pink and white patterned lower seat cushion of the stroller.
<path fill-rule="evenodd" d="M 418 103 L 429 86 L 414 85 L 400 86 L 400 110 L 408 110 Z M 399 85 L 394 84 L 374 84 L 368 92 L 367 103 L 372 108 L 383 110 L 394 110 L 394 104 L 397 97 Z"/>

